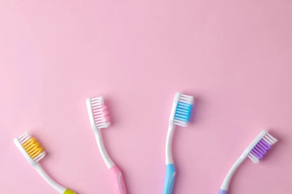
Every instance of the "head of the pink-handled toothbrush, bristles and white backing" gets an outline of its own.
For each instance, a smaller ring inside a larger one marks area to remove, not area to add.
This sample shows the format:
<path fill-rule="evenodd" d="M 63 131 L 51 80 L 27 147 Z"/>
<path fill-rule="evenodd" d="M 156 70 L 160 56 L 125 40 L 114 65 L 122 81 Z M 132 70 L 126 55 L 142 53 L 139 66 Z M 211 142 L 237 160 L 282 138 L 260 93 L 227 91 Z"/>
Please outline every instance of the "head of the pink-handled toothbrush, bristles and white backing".
<path fill-rule="evenodd" d="M 103 97 L 86 99 L 87 111 L 92 129 L 102 129 L 110 126 L 110 117 Z"/>

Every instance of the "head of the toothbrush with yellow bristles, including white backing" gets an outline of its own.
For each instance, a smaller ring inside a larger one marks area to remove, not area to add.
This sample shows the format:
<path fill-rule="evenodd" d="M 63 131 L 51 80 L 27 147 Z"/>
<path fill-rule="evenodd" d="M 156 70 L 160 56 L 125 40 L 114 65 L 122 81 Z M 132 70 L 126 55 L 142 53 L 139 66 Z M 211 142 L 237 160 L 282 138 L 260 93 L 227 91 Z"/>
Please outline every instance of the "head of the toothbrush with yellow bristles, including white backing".
<path fill-rule="evenodd" d="M 28 131 L 15 138 L 14 143 L 23 154 L 23 156 L 31 164 L 39 162 L 46 155 L 46 152 L 39 145 L 36 138 L 32 138 Z"/>

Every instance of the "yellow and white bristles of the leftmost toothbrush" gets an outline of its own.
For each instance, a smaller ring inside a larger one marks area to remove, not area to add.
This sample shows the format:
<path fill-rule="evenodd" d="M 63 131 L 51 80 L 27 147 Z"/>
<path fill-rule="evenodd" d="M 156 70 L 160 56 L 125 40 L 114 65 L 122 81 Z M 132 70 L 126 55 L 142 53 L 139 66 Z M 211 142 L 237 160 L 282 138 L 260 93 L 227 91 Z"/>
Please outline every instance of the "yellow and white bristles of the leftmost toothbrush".
<path fill-rule="evenodd" d="M 32 138 L 28 131 L 24 132 L 22 135 L 18 137 L 18 141 L 27 152 L 27 154 L 33 159 L 35 162 L 40 161 L 46 155 L 46 152 L 43 151 L 43 148 L 39 145 L 36 138 Z"/>

